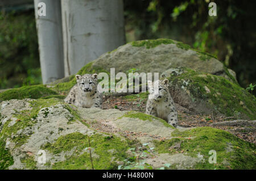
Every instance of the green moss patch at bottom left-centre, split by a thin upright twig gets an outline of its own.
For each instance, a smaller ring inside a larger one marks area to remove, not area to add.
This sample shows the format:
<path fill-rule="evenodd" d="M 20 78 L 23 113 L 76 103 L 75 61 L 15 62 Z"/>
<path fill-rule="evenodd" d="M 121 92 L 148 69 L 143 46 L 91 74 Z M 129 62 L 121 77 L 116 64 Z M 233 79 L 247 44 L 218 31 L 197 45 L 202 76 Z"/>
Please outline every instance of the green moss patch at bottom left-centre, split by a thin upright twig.
<path fill-rule="evenodd" d="M 92 148 L 92 161 L 94 169 L 117 169 L 117 161 L 127 159 L 126 150 L 132 142 L 121 140 L 116 136 L 105 137 L 101 134 L 90 136 Z M 43 149 L 53 154 L 61 151 L 70 151 L 75 148 L 72 156 L 67 156 L 63 162 L 57 162 L 52 169 L 92 169 L 89 150 L 88 136 L 81 133 L 71 133 L 59 137 L 53 144 L 46 144 Z M 114 151 L 109 151 L 114 150 Z"/>

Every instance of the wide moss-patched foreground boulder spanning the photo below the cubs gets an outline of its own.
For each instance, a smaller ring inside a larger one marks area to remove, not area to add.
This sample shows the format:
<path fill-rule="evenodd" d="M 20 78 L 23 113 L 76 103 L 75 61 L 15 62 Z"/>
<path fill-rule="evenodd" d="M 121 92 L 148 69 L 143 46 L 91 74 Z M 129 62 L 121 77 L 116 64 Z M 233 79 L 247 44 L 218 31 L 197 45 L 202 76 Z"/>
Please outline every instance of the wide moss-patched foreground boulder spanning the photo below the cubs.
<path fill-rule="evenodd" d="M 0 169 L 255 169 L 255 145 L 219 129 L 57 98 L 7 100 L 0 111 Z"/>

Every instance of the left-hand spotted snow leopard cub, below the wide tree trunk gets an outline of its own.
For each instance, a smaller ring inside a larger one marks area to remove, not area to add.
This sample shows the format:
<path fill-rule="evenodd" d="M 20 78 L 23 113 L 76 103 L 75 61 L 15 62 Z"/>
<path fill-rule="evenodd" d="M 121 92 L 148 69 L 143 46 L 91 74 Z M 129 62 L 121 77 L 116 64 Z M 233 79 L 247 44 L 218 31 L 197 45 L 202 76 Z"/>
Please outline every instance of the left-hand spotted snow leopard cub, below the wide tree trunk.
<path fill-rule="evenodd" d="M 72 87 L 64 101 L 78 107 L 101 108 L 102 95 L 97 90 L 97 76 L 97 74 L 76 75 L 77 84 Z"/>

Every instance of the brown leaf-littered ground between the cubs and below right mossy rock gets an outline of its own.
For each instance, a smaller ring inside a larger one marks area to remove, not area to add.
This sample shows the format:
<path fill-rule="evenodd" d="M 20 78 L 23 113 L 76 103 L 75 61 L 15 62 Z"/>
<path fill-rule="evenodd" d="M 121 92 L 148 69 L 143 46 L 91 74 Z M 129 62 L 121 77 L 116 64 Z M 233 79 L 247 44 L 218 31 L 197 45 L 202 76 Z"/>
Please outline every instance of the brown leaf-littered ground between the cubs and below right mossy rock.
<path fill-rule="evenodd" d="M 134 96 L 135 97 L 135 96 Z M 147 99 L 141 97 L 135 97 L 134 99 L 127 99 L 127 96 L 104 96 L 103 109 L 107 110 L 110 108 L 115 108 L 120 111 L 139 111 L 145 112 Z M 237 120 L 238 117 L 224 117 L 224 116 L 214 116 L 210 115 L 198 115 L 194 112 L 189 111 L 187 108 L 175 104 L 179 117 L 179 126 L 190 128 L 190 127 L 213 127 L 228 131 L 235 136 L 241 138 L 242 140 L 252 142 L 256 144 L 256 128 L 255 125 L 223 125 L 215 124 L 221 123 L 223 121 Z M 102 126 L 97 125 L 98 128 Z M 103 126 L 104 127 L 104 126 Z M 135 133 L 134 133 L 135 134 Z M 137 134 L 137 133 L 136 133 Z M 129 134 L 130 135 L 130 134 Z"/>

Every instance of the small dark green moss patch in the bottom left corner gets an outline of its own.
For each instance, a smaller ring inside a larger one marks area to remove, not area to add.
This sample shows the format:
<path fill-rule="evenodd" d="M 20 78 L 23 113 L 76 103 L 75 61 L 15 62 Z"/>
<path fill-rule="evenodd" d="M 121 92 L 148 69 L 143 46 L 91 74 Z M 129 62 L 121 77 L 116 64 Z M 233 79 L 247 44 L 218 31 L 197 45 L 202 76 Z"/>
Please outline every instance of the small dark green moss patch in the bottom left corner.
<path fill-rule="evenodd" d="M 9 149 L 5 148 L 5 141 L 0 139 L 0 170 L 8 169 L 13 163 L 14 160 Z"/>

